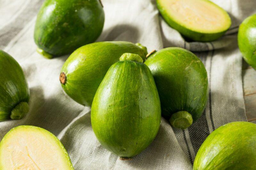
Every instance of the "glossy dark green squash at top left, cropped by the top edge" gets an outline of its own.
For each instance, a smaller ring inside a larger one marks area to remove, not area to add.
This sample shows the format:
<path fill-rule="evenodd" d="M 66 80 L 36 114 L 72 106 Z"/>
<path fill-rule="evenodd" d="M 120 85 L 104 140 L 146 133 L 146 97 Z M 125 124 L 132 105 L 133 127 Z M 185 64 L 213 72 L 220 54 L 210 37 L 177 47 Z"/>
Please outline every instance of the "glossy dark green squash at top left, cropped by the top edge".
<path fill-rule="evenodd" d="M 36 20 L 37 51 L 46 58 L 72 53 L 100 36 L 104 18 L 99 0 L 46 0 Z"/>

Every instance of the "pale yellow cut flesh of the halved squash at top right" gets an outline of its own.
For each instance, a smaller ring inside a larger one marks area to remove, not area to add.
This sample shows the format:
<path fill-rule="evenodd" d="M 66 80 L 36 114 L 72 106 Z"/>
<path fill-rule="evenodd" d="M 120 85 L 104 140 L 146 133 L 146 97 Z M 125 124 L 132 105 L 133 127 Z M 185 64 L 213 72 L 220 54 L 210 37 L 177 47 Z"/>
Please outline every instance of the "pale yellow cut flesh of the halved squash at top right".
<path fill-rule="evenodd" d="M 160 0 L 167 13 L 180 25 L 200 32 L 220 32 L 230 26 L 228 14 L 204 0 Z M 228 19 L 228 22 L 227 22 Z"/>

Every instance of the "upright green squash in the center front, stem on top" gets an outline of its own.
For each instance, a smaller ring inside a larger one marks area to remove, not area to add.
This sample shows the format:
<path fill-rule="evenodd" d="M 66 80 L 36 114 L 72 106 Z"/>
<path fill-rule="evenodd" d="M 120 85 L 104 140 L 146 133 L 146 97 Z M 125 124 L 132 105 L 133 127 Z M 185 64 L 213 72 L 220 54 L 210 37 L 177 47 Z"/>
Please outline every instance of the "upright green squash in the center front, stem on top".
<path fill-rule="evenodd" d="M 132 158 L 153 141 L 161 122 L 154 78 L 139 55 L 124 53 L 102 80 L 92 103 L 92 129 L 110 152 Z"/>

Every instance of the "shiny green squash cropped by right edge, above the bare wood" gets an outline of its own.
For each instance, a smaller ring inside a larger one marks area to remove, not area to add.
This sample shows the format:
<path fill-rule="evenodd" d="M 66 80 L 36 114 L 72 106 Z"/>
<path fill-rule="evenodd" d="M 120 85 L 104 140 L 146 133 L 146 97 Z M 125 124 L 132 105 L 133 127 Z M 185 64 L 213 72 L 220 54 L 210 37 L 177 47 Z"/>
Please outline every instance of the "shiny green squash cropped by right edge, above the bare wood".
<path fill-rule="evenodd" d="M 246 18 L 240 25 L 238 46 L 244 60 L 256 70 L 256 14 Z"/>

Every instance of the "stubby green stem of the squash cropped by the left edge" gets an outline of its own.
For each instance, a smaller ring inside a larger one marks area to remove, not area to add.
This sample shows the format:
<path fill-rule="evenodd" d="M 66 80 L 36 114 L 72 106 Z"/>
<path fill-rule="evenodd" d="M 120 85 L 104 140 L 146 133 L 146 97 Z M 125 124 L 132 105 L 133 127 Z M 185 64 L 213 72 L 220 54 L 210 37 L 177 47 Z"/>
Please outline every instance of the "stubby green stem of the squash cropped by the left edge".
<path fill-rule="evenodd" d="M 27 102 L 20 102 L 18 105 L 15 106 L 14 109 L 12 109 L 11 112 L 11 119 L 12 120 L 18 120 L 24 117 L 26 113 L 28 113 L 29 106 Z"/>

